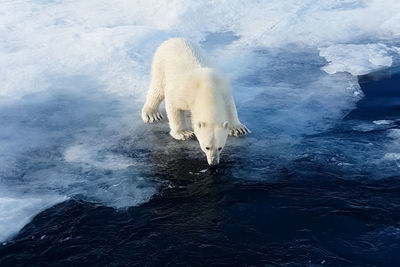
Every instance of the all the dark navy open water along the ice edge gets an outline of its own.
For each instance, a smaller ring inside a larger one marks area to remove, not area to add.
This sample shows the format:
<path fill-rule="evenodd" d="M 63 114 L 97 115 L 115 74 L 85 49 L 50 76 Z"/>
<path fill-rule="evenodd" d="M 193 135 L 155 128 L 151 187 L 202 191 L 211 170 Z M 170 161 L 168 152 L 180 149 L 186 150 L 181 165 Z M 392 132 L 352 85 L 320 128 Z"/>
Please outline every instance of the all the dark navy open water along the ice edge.
<path fill-rule="evenodd" d="M 306 137 L 309 151 L 285 164 L 269 156 L 269 146 L 231 146 L 218 169 L 202 172 L 202 155 L 186 154 L 186 145 L 174 140 L 166 153 L 121 140 L 114 149 L 144 157 L 154 168 L 142 175 L 161 183 L 161 191 L 122 210 L 79 196 L 53 206 L 0 246 L 0 266 L 399 266 L 400 176 L 384 168 L 375 170 L 383 172 L 380 179 L 367 169 L 335 169 L 330 156 L 341 155 L 332 143 L 341 150 L 346 140 L 381 138 L 379 129 L 348 130 L 352 121 L 400 117 L 396 73 L 360 77 L 365 98 L 357 108 L 334 129 Z M 254 126 L 250 113 L 242 112 Z M 165 125 L 146 127 L 152 145 L 163 146 Z M 252 130 L 237 142 L 263 138 L 261 128 Z M 355 147 L 369 153 L 363 144 Z"/>

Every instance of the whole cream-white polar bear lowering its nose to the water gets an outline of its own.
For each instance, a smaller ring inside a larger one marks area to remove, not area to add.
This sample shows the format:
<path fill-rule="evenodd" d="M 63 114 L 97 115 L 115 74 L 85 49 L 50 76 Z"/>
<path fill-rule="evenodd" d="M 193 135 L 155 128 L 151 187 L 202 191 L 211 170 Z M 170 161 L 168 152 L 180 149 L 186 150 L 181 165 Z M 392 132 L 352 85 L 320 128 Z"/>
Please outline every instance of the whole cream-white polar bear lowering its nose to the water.
<path fill-rule="evenodd" d="M 209 165 L 219 164 L 228 134 L 250 132 L 239 121 L 229 80 L 198 45 L 184 39 L 169 39 L 154 54 L 144 122 L 163 118 L 159 105 L 164 99 L 170 135 L 177 140 L 196 136 Z"/>

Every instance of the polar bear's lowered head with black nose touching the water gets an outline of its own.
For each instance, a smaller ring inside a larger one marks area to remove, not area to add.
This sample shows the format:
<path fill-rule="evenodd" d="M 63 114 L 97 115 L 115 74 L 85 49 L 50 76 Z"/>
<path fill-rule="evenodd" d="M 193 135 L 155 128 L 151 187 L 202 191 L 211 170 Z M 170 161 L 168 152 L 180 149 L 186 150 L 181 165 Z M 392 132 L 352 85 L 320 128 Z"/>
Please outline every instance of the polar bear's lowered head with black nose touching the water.
<path fill-rule="evenodd" d="M 228 138 L 228 122 L 195 124 L 194 133 L 210 166 L 219 164 L 219 156 Z"/>

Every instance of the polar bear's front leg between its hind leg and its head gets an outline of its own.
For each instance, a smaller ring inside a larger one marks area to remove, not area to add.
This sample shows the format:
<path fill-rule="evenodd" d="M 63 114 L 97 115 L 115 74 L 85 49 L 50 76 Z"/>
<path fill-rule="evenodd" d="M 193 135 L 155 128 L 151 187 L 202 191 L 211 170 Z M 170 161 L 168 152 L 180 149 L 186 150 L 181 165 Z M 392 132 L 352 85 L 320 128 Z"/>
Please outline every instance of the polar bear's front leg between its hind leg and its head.
<path fill-rule="evenodd" d="M 187 127 L 185 112 L 175 109 L 169 105 L 166 107 L 171 131 L 169 134 L 176 140 L 187 140 L 194 138 L 194 132 Z"/>

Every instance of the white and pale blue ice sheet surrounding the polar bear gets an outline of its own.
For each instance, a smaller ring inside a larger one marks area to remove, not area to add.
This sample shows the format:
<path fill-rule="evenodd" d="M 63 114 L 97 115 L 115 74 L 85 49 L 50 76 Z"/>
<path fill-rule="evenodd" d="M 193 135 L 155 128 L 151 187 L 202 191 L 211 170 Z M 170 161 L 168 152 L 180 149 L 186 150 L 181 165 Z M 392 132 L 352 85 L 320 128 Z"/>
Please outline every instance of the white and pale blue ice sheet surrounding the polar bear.
<path fill-rule="evenodd" d="M 304 136 L 355 108 L 354 75 L 399 64 L 394 0 L 3 1 L 0 13 L 0 239 L 59 199 L 145 203 L 160 186 L 149 179 L 155 155 L 177 146 L 197 157 L 195 144 L 172 143 L 165 124 L 146 128 L 137 115 L 152 54 L 167 38 L 208 47 L 231 76 L 239 114 L 255 129 L 232 149 L 265 149 L 257 157 L 271 165 L 257 168 L 271 172 L 307 150 Z"/>

